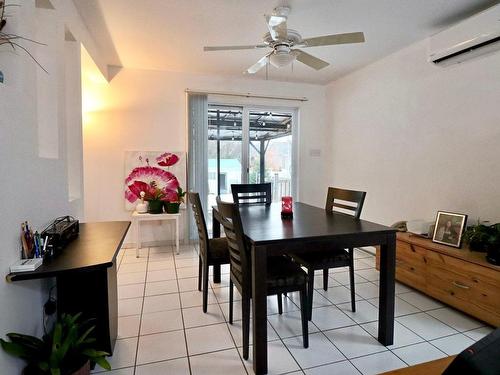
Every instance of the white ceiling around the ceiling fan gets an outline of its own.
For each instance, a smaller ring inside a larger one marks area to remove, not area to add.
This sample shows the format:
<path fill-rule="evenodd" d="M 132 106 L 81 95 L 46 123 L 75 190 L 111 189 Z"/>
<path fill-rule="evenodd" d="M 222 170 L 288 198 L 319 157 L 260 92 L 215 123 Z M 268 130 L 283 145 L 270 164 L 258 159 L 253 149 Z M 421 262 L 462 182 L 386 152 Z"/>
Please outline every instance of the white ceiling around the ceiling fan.
<path fill-rule="evenodd" d="M 96 39 L 113 50 L 110 65 L 127 68 L 241 77 L 266 50 L 203 52 L 203 46 L 260 43 L 267 31 L 264 14 L 271 13 L 277 5 L 292 8 L 288 27 L 299 31 L 304 38 L 363 31 L 364 44 L 308 48 L 307 52 L 331 64 L 321 71 L 298 62 L 294 63 L 293 71 L 291 67 L 269 69 L 269 79 L 326 84 L 498 0 L 74 2 Z M 99 19 L 103 22 L 98 22 Z M 256 77 L 264 78 L 265 69 Z"/>

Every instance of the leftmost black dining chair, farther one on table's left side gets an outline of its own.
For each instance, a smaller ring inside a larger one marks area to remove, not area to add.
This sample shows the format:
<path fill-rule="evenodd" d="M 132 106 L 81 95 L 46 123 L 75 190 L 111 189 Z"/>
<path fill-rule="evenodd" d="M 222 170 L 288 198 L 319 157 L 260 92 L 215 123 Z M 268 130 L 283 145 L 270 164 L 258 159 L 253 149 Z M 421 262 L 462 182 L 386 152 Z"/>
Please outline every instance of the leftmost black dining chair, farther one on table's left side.
<path fill-rule="evenodd" d="M 229 264 L 229 249 L 226 238 L 208 238 L 207 224 L 201 207 L 200 195 L 189 192 L 188 199 L 193 208 L 196 227 L 198 228 L 198 290 L 202 290 L 203 280 L 203 312 L 207 312 L 208 299 L 208 267 Z"/>

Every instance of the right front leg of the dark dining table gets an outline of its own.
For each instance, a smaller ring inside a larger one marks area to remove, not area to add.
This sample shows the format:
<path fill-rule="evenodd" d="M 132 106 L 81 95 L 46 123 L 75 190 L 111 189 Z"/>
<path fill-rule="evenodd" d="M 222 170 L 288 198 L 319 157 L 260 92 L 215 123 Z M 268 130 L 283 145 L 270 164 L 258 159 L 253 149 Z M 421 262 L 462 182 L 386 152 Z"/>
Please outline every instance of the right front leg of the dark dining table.
<path fill-rule="evenodd" d="M 380 246 L 378 341 L 385 346 L 394 342 L 395 273 L 396 233 L 390 233 Z"/>

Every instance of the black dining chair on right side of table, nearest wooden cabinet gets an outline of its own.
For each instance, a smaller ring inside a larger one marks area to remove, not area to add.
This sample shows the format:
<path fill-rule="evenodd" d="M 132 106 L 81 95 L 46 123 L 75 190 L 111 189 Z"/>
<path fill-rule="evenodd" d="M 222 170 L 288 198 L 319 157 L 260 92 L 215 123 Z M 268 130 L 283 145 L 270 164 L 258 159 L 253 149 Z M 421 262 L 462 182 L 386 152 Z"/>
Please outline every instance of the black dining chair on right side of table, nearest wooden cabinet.
<path fill-rule="evenodd" d="M 359 219 L 366 192 L 328 188 L 326 197 L 326 211 L 337 211 Z M 305 252 L 292 255 L 292 259 L 307 269 L 308 280 L 308 302 L 309 320 L 312 319 L 312 301 L 314 293 L 314 271 L 323 270 L 323 289 L 328 290 L 328 271 L 330 268 L 349 267 L 349 281 L 351 285 L 351 308 L 356 311 L 356 301 L 354 294 L 354 249 L 327 248 L 317 251 Z"/>

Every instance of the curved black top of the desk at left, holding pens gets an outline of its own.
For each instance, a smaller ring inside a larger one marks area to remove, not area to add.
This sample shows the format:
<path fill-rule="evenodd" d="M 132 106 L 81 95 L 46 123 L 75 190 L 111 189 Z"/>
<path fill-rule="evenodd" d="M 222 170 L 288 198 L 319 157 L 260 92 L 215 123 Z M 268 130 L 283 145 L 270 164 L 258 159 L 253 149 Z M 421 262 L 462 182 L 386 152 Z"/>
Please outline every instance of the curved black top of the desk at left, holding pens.
<path fill-rule="evenodd" d="M 81 223 L 78 237 L 59 256 L 35 271 L 10 273 L 7 281 L 41 279 L 63 272 L 111 267 L 129 226 L 130 221 Z"/>

